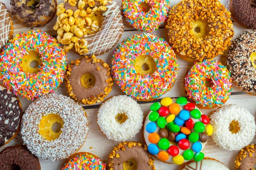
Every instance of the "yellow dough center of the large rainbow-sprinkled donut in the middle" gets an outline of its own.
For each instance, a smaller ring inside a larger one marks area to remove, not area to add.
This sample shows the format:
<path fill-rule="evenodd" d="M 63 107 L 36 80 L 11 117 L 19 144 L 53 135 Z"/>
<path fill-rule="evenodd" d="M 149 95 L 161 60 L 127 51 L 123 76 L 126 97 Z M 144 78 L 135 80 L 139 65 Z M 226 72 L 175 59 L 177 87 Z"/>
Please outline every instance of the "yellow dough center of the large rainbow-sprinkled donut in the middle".
<path fill-rule="evenodd" d="M 136 73 L 141 75 L 151 75 L 156 71 L 156 63 L 151 56 L 141 55 L 135 59 L 134 67 Z"/>

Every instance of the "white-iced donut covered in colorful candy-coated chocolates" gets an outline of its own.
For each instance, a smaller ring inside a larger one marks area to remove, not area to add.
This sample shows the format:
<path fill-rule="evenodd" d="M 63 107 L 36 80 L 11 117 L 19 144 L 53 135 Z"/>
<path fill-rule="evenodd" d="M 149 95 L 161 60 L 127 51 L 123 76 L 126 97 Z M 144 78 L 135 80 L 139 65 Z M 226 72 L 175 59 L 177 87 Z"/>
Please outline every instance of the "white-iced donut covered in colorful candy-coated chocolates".
<path fill-rule="evenodd" d="M 212 135 L 209 117 L 185 97 L 165 97 L 150 106 L 143 124 L 143 141 L 156 159 L 182 164 L 204 159 L 202 150 Z"/>

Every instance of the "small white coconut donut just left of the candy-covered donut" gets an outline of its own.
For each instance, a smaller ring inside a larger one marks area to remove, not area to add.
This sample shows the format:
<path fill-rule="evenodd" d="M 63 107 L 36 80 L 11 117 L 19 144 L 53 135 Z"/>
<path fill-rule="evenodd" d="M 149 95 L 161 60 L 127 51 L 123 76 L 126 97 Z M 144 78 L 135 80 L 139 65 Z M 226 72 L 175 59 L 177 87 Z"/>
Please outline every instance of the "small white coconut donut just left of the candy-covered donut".
<path fill-rule="evenodd" d="M 125 113 L 128 119 L 122 124 L 116 121 L 119 113 Z M 109 98 L 99 108 L 98 125 L 108 139 L 126 141 L 134 137 L 141 129 L 143 111 L 131 97 L 120 95 Z"/>

